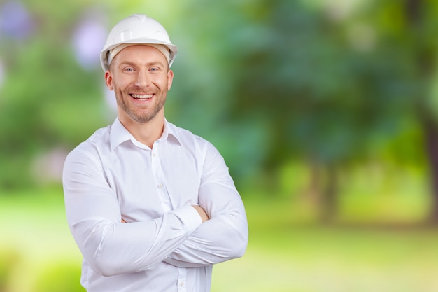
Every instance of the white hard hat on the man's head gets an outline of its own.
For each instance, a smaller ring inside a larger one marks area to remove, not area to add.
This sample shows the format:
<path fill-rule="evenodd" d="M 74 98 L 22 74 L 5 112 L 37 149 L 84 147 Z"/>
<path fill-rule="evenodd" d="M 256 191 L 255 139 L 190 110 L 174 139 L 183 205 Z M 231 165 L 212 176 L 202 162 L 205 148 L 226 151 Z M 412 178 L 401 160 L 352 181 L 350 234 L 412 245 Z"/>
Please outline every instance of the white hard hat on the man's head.
<path fill-rule="evenodd" d="M 100 62 L 104 71 L 109 68 L 108 55 L 110 51 L 126 43 L 167 46 L 169 48 L 169 67 L 178 53 L 178 48 L 171 43 L 169 34 L 160 22 L 143 14 L 134 14 L 118 22 L 108 34 L 104 49 L 100 53 Z"/>

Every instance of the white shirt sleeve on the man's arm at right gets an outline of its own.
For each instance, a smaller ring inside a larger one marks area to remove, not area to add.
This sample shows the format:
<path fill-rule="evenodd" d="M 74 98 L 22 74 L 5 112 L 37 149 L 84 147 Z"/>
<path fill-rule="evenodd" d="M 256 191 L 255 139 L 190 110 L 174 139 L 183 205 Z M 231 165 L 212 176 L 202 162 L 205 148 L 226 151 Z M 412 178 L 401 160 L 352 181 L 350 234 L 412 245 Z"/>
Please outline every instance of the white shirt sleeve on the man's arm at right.
<path fill-rule="evenodd" d="M 211 144 L 206 148 L 199 205 L 210 220 L 164 261 L 177 267 L 199 267 L 243 256 L 248 244 L 245 209 L 222 156 Z"/>

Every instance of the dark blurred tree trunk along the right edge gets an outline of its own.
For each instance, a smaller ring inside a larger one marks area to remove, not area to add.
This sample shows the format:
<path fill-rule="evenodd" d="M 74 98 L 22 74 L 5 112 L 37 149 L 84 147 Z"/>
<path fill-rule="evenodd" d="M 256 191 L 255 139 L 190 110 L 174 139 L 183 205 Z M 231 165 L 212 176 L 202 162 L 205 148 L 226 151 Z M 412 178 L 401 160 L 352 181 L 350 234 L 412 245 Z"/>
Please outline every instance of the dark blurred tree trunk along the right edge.
<path fill-rule="evenodd" d="M 434 98 L 431 88 L 437 71 L 436 52 L 438 43 L 435 41 L 438 33 L 438 5 L 435 1 L 406 0 L 404 5 L 405 26 L 398 32 L 407 34 L 414 46 L 412 55 L 415 62 L 415 80 L 418 90 L 414 109 L 421 121 L 425 134 L 425 151 L 430 165 L 430 179 L 433 190 L 433 204 L 430 221 L 438 224 L 438 116 L 430 100 Z"/>

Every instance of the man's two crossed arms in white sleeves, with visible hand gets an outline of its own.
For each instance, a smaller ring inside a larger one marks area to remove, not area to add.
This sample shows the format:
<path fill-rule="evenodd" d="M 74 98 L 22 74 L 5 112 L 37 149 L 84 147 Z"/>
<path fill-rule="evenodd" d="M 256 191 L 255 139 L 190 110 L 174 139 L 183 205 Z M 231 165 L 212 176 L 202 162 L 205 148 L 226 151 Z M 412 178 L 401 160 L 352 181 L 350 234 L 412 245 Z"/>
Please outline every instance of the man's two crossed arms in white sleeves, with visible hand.
<path fill-rule="evenodd" d="M 150 221 L 124 223 L 102 169 L 92 161 L 84 163 L 87 159 L 83 153 L 67 158 L 64 198 L 73 237 L 95 272 L 139 272 L 162 262 L 199 267 L 243 255 L 248 241 L 245 211 L 223 165 L 221 179 L 211 180 L 209 173 L 203 177 L 199 205 L 179 207 Z"/>

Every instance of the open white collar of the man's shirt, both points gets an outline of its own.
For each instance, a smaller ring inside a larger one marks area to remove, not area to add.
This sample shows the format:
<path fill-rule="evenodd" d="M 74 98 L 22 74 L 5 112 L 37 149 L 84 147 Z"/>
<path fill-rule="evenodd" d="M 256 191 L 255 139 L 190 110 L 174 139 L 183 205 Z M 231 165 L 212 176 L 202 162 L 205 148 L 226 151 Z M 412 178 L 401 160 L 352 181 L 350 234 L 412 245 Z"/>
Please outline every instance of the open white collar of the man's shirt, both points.
<path fill-rule="evenodd" d="M 132 143 L 141 148 L 148 148 L 148 146 L 137 141 L 134 136 L 125 128 L 125 126 L 120 123 L 118 118 L 115 118 L 113 125 L 111 125 L 110 131 L 110 143 L 111 151 L 113 151 L 117 146 L 125 141 L 132 141 Z M 181 145 L 180 138 L 178 137 L 178 129 L 172 123 L 169 123 L 166 118 L 164 118 L 164 131 L 158 140 L 168 140 L 169 142 L 174 142 Z"/>

